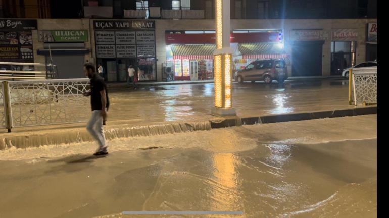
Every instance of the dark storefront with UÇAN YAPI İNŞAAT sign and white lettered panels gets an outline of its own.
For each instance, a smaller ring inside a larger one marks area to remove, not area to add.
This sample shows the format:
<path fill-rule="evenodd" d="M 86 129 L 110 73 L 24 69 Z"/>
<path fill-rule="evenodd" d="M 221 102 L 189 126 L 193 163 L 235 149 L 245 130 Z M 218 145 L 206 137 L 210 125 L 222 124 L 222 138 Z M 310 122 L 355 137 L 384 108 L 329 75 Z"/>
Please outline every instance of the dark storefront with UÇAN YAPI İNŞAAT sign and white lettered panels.
<path fill-rule="evenodd" d="M 129 65 L 138 81 L 156 81 L 155 21 L 94 20 L 96 63 L 109 82 L 126 81 Z"/>

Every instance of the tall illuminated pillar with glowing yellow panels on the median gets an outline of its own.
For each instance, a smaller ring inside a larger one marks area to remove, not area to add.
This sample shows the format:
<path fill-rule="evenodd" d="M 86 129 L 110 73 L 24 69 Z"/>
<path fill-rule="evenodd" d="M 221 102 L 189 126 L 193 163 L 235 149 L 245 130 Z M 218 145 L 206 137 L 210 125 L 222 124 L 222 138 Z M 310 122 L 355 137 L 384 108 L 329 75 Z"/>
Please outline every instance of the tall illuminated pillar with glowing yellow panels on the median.
<path fill-rule="evenodd" d="M 216 1 L 216 50 L 214 55 L 215 106 L 212 115 L 236 116 L 232 108 L 232 49 L 230 47 L 230 0 Z"/>

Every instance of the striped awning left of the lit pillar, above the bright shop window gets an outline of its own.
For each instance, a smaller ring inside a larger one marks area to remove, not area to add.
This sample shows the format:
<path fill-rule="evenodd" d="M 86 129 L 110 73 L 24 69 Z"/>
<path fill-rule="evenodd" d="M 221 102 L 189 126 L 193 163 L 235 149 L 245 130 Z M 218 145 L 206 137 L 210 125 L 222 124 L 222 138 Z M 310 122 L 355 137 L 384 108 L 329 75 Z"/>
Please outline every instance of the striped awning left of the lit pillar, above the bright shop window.
<path fill-rule="evenodd" d="M 174 59 L 212 59 L 214 44 L 171 45 Z"/>

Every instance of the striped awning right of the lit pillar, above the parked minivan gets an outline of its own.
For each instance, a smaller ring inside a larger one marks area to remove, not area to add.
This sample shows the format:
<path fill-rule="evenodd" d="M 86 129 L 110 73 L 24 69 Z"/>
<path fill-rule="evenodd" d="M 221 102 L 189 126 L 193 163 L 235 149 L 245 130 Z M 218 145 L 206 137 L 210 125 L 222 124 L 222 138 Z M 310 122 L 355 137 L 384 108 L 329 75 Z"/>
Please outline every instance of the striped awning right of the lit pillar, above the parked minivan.
<path fill-rule="evenodd" d="M 239 43 L 238 50 L 244 59 L 281 59 L 287 54 L 276 43 Z"/>

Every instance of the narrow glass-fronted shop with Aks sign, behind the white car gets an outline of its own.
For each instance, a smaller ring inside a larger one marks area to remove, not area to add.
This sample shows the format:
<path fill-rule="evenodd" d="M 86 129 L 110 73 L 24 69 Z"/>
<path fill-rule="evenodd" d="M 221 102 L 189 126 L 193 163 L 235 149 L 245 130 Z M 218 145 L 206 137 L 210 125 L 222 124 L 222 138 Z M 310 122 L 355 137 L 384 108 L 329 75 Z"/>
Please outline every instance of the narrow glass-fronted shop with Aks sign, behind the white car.
<path fill-rule="evenodd" d="M 357 29 L 333 29 L 331 34 L 331 75 L 342 75 L 344 69 L 355 66 Z"/>

